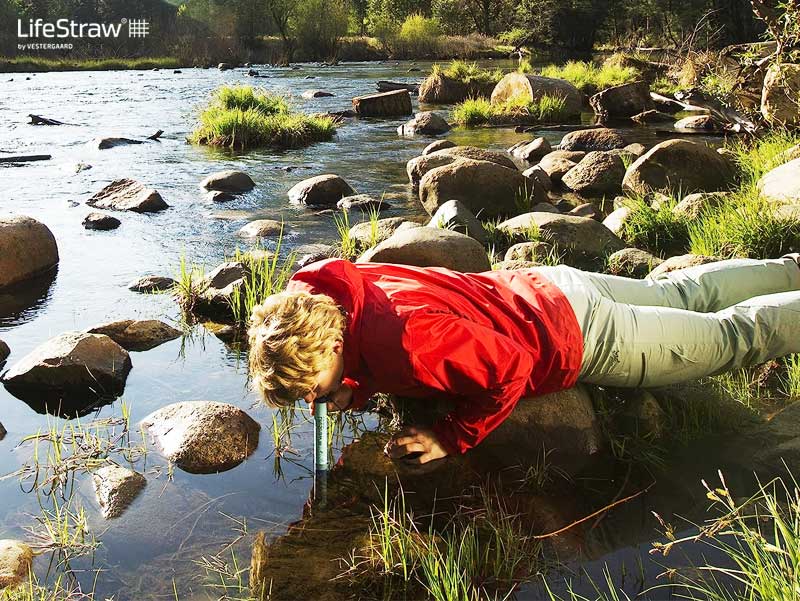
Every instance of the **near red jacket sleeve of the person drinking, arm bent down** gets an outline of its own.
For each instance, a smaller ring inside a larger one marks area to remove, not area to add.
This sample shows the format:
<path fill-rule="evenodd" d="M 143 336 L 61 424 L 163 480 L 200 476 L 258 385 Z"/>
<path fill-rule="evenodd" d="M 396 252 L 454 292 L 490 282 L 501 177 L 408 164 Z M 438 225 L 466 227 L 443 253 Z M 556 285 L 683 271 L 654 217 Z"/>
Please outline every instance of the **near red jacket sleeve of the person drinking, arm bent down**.
<path fill-rule="evenodd" d="M 456 400 L 456 409 L 433 428 L 451 453 L 466 452 L 499 426 L 533 371 L 528 349 L 451 313 L 414 315 L 406 341 L 417 381 Z"/>

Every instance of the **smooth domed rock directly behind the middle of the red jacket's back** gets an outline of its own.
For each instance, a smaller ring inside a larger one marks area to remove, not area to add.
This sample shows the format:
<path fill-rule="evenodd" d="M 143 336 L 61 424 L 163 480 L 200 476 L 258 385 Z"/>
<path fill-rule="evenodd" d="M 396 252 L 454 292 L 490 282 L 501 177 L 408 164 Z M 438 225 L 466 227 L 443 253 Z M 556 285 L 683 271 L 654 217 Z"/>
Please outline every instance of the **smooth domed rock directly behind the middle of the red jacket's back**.
<path fill-rule="evenodd" d="M 432 227 L 395 232 L 365 252 L 359 263 L 399 263 L 418 267 L 446 267 L 455 271 L 489 271 L 483 245 L 464 234 Z"/>

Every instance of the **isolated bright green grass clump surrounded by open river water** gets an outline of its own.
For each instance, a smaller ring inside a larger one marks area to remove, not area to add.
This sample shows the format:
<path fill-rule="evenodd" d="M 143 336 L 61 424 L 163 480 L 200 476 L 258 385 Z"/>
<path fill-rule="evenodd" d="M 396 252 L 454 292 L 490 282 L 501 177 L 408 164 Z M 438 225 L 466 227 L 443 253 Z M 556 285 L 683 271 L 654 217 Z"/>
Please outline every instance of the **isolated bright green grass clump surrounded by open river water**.
<path fill-rule="evenodd" d="M 200 112 L 189 141 L 235 150 L 298 148 L 335 133 L 331 117 L 292 112 L 282 97 L 252 86 L 222 86 Z"/>

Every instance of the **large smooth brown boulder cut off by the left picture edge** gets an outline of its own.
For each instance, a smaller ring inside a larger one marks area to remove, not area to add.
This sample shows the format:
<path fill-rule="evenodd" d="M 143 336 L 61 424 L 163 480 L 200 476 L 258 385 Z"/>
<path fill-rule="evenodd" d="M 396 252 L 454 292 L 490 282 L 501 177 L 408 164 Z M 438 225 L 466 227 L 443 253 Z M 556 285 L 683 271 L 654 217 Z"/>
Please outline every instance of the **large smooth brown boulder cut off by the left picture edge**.
<path fill-rule="evenodd" d="M 56 239 L 30 217 L 0 217 L 0 289 L 58 265 Z"/>

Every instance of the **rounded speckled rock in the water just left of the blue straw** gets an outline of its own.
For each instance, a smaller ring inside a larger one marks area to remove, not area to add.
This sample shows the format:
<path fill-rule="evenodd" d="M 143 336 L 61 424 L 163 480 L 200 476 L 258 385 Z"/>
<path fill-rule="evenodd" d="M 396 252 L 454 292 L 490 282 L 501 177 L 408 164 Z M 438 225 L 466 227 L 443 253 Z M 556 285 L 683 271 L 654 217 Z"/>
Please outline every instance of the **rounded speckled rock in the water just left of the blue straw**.
<path fill-rule="evenodd" d="M 192 474 L 236 467 L 256 450 L 261 430 L 238 407 L 212 401 L 167 405 L 145 417 L 142 427 L 164 457 Z"/>

